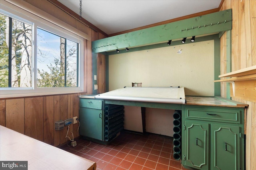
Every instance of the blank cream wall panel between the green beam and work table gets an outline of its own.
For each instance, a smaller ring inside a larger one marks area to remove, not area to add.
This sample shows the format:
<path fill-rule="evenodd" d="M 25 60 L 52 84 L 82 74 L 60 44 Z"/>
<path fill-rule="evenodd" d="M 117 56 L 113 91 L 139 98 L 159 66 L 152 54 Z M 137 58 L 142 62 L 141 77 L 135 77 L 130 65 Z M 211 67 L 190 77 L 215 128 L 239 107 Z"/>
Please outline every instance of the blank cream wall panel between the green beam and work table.
<path fill-rule="evenodd" d="M 132 82 L 184 86 L 186 95 L 214 96 L 214 40 L 110 55 L 109 90 Z"/>

